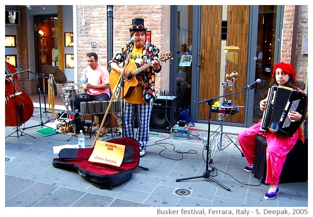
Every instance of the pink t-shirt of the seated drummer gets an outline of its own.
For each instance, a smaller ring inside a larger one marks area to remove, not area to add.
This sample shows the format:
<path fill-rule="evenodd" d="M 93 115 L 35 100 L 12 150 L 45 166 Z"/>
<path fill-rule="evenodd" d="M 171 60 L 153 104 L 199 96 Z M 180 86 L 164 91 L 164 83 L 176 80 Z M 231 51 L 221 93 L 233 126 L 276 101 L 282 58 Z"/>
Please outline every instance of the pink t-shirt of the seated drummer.
<path fill-rule="evenodd" d="M 82 84 L 92 84 L 92 85 L 100 85 L 100 84 L 109 84 L 109 72 L 106 67 L 98 66 L 95 70 L 90 67 L 85 68 L 82 76 Z M 110 96 L 109 88 L 106 89 L 92 89 L 89 88 L 87 93 L 92 96 L 99 95 L 101 93 L 107 93 Z"/>

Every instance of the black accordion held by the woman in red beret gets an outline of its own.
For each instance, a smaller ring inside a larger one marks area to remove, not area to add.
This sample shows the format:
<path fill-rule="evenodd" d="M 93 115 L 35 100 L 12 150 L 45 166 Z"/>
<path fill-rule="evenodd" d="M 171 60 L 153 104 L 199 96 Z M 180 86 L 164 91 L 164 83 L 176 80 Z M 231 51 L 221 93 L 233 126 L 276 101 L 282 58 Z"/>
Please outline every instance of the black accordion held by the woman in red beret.
<path fill-rule="evenodd" d="M 303 123 L 307 111 L 307 95 L 284 86 L 272 86 L 268 93 L 268 103 L 263 113 L 261 131 L 292 136 Z M 288 113 L 298 112 L 301 120 L 291 122 Z"/>

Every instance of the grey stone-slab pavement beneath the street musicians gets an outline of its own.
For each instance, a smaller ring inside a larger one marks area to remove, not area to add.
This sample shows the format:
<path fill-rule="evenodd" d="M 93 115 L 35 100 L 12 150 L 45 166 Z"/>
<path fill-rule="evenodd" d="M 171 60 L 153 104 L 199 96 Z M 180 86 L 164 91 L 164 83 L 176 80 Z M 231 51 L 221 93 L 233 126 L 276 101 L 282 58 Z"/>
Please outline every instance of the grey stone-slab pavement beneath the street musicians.
<path fill-rule="evenodd" d="M 34 114 L 36 112 L 35 110 Z M 251 173 L 243 170 L 246 161 L 235 145 L 236 132 L 242 130 L 240 128 L 224 126 L 227 136 L 222 137 L 222 149 L 217 149 L 210 165 L 205 163 L 207 125 L 196 123 L 197 131 L 190 130 L 189 139 L 175 139 L 171 133 L 152 132 L 146 154 L 140 158 L 139 164 L 149 170 L 135 169 L 132 178 L 126 183 L 113 190 L 101 190 L 77 172 L 53 167 L 52 161 L 58 157 L 58 154 L 53 153 L 53 146 L 77 144 L 78 137 L 65 134 L 40 136 L 35 133 L 41 128 L 36 126 L 40 123 L 38 117 L 34 116 L 26 122 L 23 126 L 25 130 L 18 137 L 16 128 L 5 127 L 6 137 L 13 133 L 5 139 L 3 185 L 3 206 L 10 214 L 21 211 L 12 207 L 93 206 L 112 207 L 116 213 L 126 214 L 129 214 L 129 209 L 125 207 L 132 207 L 136 216 L 146 213 L 159 216 L 169 214 L 169 210 L 179 210 L 179 214 L 183 215 L 182 209 L 195 215 L 201 210 L 206 214 L 218 215 L 221 213 L 213 213 L 214 210 L 226 212 L 230 208 L 234 215 L 242 214 L 240 211 L 237 213 L 236 208 L 239 208 L 251 211 L 250 215 L 253 216 L 258 211 L 264 214 L 267 209 L 282 210 L 287 207 L 292 212 L 293 207 L 298 207 L 298 212 L 305 212 L 304 209 L 308 207 L 308 182 L 280 184 L 277 198 L 271 201 L 263 198 L 269 186 L 260 184 Z M 48 123 L 50 122 L 54 120 Z M 214 129 L 218 129 L 218 126 L 213 126 Z M 216 133 L 212 135 L 211 132 L 211 151 L 215 136 Z M 108 135 L 104 139 L 110 138 Z M 93 141 L 94 138 L 86 138 L 86 147 L 91 147 Z M 213 169 L 209 173 L 210 178 L 203 178 L 206 169 Z M 197 176 L 198 178 L 177 181 Z M 73 213 L 88 214 L 87 211 L 78 210 L 75 209 Z M 39 216 L 40 211 L 36 209 L 32 214 Z M 47 213 L 52 214 L 61 213 Z"/>

